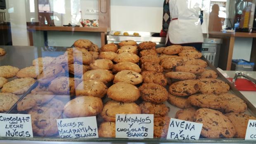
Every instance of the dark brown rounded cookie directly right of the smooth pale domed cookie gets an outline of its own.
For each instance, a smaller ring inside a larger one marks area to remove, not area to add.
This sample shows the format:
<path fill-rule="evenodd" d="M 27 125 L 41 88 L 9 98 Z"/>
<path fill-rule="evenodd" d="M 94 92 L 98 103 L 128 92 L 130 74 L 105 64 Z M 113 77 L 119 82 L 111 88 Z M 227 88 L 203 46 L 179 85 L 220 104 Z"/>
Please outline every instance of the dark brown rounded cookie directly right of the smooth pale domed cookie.
<path fill-rule="evenodd" d="M 141 98 L 146 102 L 160 104 L 168 99 L 168 92 L 165 87 L 155 83 L 143 83 L 139 87 Z"/>

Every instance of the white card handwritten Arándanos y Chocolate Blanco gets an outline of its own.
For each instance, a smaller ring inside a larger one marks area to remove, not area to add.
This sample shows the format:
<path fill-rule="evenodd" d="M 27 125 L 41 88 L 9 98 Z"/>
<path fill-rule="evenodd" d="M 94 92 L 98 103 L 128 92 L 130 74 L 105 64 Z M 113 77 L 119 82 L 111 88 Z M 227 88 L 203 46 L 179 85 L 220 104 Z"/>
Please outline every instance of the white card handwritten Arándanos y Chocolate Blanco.
<path fill-rule="evenodd" d="M 116 114 L 116 138 L 152 139 L 154 115 Z"/>

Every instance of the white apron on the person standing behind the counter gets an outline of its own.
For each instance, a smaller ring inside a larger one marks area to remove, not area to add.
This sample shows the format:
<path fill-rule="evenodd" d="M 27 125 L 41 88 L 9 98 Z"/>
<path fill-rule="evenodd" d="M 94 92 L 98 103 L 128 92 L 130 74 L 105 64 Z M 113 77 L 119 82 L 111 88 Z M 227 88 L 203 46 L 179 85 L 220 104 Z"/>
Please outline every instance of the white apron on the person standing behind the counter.
<path fill-rule="evenodd" d="M 166 42 L 169 38 L 173 44 L 204 42 L 200 8 L 193 0 L 169 0 L 171 20 Z"/>

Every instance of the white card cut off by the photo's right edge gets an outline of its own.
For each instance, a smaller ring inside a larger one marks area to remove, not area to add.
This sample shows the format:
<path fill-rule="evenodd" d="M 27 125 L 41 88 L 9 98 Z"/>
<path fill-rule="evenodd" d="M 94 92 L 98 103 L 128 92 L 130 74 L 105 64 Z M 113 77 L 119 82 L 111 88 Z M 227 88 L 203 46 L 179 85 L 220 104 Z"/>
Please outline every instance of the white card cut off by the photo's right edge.
<path fill-rule="evenodd" d="M 245 134 L 245 140 L 256 139 L 256 120 L 249 120 Z"/>

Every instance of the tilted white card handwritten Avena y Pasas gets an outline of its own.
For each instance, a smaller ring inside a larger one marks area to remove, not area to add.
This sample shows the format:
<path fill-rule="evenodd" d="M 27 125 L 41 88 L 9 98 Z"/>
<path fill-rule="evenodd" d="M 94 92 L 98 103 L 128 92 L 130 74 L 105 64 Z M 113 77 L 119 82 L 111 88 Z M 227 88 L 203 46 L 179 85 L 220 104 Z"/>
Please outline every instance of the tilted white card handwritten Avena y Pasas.
<path fill-rule="evenodd" d="M 198 140 L 203 124 L 171 118 L 167 139 Z"/>

